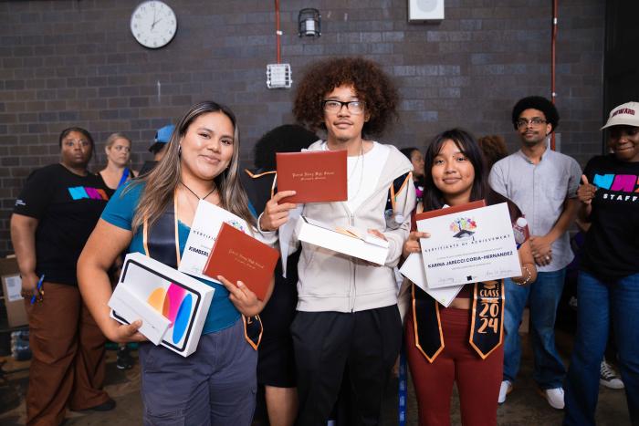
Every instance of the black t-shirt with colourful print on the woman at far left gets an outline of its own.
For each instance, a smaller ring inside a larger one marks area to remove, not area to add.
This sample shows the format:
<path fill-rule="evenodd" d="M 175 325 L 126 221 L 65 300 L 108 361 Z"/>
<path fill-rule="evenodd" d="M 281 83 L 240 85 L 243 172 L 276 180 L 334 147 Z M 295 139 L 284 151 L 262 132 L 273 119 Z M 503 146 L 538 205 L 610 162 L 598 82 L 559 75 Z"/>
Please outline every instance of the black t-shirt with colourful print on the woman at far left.
<path fill-rule="evenodd" d="M 33 171 L 17 197 L 14 213 L 38 220 L 36 274 L 78 286 L 76 264 L 109 197 L 92 173 L 79 176 L 61 164 Z"/>

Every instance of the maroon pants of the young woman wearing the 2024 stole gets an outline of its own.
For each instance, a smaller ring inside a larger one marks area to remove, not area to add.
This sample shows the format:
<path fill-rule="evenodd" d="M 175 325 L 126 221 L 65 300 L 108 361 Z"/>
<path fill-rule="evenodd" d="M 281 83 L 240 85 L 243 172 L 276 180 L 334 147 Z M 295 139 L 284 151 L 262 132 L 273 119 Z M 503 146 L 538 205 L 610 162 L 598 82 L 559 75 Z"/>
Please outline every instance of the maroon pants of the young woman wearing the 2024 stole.
<path fill-rule="evenodd" d="M 497 424 L 497 400 L 502 379 L 503 346 L 482 359 L 468 343 L 470 312 L 440 309 L 445 348 L 431 364 L 415 347 L 413 315 L 406 320 L 406 355 L 417 395 L 420 426 L 450 425 L 453 383 L 459 391 L 465 426 Z"/>

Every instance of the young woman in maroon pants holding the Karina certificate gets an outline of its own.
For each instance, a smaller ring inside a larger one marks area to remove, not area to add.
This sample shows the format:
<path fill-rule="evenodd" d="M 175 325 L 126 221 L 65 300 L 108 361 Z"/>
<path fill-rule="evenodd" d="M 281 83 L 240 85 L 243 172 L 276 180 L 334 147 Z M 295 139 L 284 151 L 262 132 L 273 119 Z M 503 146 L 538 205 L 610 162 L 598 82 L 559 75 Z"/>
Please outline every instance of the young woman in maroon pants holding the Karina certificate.
<path fill-rule="evenodd" d="M 481 150 L 466 131 L 454 129 L 437 135 L 426 150 L 424 163 L 424 212 L 486 200 L 488 205 L 507 203 L 512 223 L 521 216 L 514 203 L 488 186 Z M 403 245 L 403 256 L 421 252 L 419 238 L 426 237 L 428 234 L 412 232 Z M 513 280 L 528 285 L 537 275 L 528 241 L 519 248 L 519 262 L 523 275 Z M 406 321 L 405 336 L 421 425 L 450 424 L 455 382 L 462 422 L 497 424 L 502 327 L 487 327 L 478 336 L 471 325 L 479 323 L 471 323 L 471 318 L 481 310 L 481 296 L 477 295 L 483 288 L 498 291 L 498 320 L 503 317 L 503 280 L 468 284 L 449 307 L 439 306 L 433 297 L 413 285 L 413 308 Z"/>

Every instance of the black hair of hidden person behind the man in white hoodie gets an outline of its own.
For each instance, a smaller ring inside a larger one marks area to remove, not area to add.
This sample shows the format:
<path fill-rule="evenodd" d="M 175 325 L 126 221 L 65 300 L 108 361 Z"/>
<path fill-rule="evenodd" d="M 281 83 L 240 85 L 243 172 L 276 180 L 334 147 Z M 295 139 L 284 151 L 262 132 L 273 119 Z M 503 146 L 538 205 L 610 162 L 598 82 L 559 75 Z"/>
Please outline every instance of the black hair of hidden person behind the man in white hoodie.
<path fill-rule="evenodd" d="M 303 148 L 309 148 L 316 140 L 319 140 L 318 135 L 297 124 L 278 126 L 268 130 L 257 140 L 253 149 L 253 163 L 257 169 L 275 170 L 276 152 L 299 152 Z"/>

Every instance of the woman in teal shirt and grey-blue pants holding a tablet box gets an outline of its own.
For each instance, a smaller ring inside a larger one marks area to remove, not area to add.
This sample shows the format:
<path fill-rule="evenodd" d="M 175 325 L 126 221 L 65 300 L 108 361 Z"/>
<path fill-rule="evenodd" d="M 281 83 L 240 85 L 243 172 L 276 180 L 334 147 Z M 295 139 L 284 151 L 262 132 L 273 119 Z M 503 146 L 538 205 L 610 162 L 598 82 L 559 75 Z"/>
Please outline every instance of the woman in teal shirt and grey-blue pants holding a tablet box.
<path fill-rule="evenodd" d="M 113 195 L 78 265 L 80 291 L 107 338 L 144 340 L 137 331 L 140 321 L 122 326 L 109 317 L 107 271 L 123 250 L 177 267 L 200 200 L 255 223 L 238 165 L 233 112 L 205 101 L 180 120 L 157 167 Z M 215 293 L 194 354 L 183 358 L 167 348 L 141 344 L 144 424 L 250 424 L 257 351 L 245 340 L 242 316 L 257 315 L 267 297 L 260 301 L 241 282 L 221 281 L 224 286 L 204 281 Z"/>

